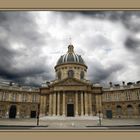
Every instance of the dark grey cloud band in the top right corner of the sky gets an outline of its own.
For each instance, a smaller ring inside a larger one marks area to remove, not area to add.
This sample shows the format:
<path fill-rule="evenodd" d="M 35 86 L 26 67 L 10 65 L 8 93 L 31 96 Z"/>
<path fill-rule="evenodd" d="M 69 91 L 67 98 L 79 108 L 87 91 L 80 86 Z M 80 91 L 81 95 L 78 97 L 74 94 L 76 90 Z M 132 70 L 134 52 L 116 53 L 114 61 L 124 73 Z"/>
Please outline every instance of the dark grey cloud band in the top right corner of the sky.
<path fill-rule="evenodd" d="M 90 11 L 81 12 L 85 16 L 98 19 L 107 19 L 113 22 L 121 22 L 132 32 L 140 31 L 140 12 L 139 11 Z"/>

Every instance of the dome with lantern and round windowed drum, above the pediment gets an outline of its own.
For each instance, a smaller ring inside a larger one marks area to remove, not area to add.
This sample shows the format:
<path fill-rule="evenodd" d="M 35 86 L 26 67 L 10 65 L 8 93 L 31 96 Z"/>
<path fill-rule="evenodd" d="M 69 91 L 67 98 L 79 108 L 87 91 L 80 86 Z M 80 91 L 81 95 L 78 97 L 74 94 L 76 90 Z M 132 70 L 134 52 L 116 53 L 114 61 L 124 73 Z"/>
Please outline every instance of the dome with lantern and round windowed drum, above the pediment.
<path fill-rule="evenodd" d="M 73 45 L 69 45 L 68 52 L 59 58 L 55 71 L 58 80 L 68 77 L 84 80 L 87 66 L 83 58 L 75 54 Z"/>

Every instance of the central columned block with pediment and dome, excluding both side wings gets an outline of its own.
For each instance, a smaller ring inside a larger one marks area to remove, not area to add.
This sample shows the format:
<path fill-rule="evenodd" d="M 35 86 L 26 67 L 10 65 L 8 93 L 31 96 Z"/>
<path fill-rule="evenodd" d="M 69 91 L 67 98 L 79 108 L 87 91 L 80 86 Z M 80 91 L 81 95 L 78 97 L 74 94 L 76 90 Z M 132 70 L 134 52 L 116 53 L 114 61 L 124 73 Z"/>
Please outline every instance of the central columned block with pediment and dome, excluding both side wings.
<path fill-rule="evenodd" d="M 55 72 L 54 82 L 40 89 L 41 116 L 93 116 L 102 110 L 102 88 L 86 79 L 87 66 L 72 44 L 58 59 Z"/>

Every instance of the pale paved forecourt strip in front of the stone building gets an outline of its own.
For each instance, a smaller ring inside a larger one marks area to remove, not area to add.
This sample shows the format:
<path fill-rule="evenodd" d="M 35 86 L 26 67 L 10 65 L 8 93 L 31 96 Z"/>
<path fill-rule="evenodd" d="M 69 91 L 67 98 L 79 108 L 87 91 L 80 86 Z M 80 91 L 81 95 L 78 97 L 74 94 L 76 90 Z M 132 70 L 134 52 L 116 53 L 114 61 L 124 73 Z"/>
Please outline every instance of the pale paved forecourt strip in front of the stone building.
<path fill-rule="evenodd" d="M 140 119 L 103 119 L 102 126 L 140 125 Z M 36 126 L 36 119 L 0 119 L 0 125 Z M 40 120 L 39 125 L 48 129 L 55 128 L 86 128 L 99 126 L 98 120 Z"/>

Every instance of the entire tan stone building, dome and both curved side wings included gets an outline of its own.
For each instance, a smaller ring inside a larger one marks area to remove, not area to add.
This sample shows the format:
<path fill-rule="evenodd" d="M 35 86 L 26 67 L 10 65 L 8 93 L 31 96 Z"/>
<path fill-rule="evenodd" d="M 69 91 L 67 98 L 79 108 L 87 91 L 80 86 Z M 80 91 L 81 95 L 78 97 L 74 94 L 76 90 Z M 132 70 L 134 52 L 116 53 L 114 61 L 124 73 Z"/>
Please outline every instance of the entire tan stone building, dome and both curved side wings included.
<path fill-rule="evenodd" d="M 55 66 L 56 78 L 38 89 L 0 86 L 0 118 L 96 116 L 140 118 L 140 83 L 103 88 L 86 79 L 87 66 L 73 45 Z M 40 107 L 40 108 L 39 108 Z"/>

